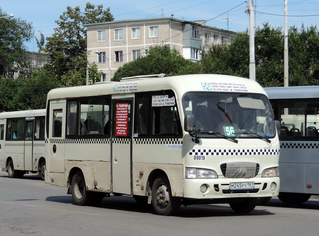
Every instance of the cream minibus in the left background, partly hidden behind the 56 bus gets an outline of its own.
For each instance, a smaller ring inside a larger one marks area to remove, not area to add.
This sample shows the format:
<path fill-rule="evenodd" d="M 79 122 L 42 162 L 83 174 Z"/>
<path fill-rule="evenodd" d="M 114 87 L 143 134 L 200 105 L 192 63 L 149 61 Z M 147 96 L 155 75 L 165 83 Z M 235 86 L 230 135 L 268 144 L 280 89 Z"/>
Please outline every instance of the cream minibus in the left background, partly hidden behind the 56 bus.
<path fill-rule="evenodd" d="M 0 113 L 0 168 L 7 168 L 10 178 L 39 172 L 44 180 L 45 112 L 41 109 Z"/>

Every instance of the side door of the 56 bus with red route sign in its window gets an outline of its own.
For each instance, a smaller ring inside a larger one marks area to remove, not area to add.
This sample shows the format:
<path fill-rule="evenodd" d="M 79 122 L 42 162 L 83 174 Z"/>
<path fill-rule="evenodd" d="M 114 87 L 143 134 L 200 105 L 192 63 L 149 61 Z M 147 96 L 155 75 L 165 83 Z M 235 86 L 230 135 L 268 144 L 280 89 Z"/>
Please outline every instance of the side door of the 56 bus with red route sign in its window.
<path fill-rule="evenodd" d="M 114 99 L 112 107 L 112 191 L 130 195 L 132 192 L 133 98 Z"/>

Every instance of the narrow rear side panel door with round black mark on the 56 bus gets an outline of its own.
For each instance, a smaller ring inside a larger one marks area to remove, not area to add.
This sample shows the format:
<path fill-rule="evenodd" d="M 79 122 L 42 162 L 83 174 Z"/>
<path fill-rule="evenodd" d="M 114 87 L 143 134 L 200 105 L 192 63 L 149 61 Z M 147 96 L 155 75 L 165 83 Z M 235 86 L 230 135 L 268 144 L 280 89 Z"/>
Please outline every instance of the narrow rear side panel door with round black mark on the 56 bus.
<path fill-rule="evenodd" d="M 50 101 L 48 154 L 50 172 L 64 173 L 65 102 Z"/>

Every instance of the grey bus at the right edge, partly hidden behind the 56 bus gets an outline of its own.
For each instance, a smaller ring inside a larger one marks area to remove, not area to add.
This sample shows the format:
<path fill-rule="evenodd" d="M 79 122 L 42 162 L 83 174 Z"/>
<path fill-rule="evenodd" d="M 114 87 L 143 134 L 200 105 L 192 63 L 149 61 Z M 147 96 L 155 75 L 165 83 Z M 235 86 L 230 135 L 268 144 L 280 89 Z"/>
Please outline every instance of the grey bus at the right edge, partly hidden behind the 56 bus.
<path fill-rule="evenodd" d="M 264 89 L 281 123 L 278 198 L 304 203 L 319 195 L 319 86 Z"/>

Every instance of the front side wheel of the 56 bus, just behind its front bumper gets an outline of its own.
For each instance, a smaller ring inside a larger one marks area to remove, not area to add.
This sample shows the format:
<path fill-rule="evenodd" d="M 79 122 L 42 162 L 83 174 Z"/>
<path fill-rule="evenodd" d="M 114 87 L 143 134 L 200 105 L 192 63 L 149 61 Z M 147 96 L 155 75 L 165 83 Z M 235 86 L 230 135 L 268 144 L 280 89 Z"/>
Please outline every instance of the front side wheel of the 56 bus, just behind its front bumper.
<path fill-rule="evenodd" d="M 181 206 L 181 199 L 172 197 L 171 186 L 164 175 L 153 182 L 152 205 L 155 212 L 161 216 L 173 215 Z"/>

